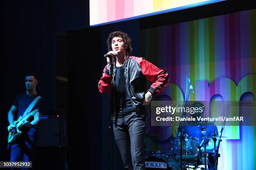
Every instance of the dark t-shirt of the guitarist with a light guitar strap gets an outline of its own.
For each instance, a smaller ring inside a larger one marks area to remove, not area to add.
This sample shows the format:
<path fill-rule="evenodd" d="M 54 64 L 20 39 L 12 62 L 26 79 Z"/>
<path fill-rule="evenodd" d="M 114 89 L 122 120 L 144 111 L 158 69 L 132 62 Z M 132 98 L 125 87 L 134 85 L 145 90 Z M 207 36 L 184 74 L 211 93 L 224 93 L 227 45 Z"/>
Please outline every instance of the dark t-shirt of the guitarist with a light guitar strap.
<path fill-rule="evenodd" d="M 23 116 L 25 110 L 28 108 L 28 106 L 31 104 L 31 102 L 38 96 L 38 94 L 36 95 L 27 95 L 26 93 L 23 93 L 23 94 L 19 94 L 15 100 L 14 100 L 14 103 L 13 105 L 15 107 L 17 107 L 17 115 L 15 117 L 13 117 L 14 120 L 17 120 L 20 116 Z M 35 109 L 38 109 L 39 112 L 42 112 L 42 109 L 43 109 L 43 103 L 44 103 L 44 100 L 41 98 L 39 99 L 37 102 L 36 102 L 36 105 L 33 107 L 33 110 Z M 30 117 L 29 120 L 33 120 L 33 116 Z M 33 132 L 33 131 L 36 131 L 36 127 L 32 127 L 32 128 L 27 128 L 27 127 L 23 127 L 22 128 L 22 131 L 30 131 L 30 132 Z"/>

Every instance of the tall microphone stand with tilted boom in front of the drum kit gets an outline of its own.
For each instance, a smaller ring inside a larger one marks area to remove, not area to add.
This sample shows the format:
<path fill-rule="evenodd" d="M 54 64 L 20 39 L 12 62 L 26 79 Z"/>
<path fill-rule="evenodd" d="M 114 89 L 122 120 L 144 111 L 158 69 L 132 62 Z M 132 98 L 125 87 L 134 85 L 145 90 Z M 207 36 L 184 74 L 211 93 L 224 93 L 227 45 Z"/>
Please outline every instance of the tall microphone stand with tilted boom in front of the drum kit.
<path fill-rule="evenodd" d="M 187 95 L 187 86 L 186 86 L 184 107 L 187 105 L 187 101 L 188 101 L 188 98 L 189 98 L 190 91 L 192 90 L 192 92 L 195 93 L 194 90 L 193 90 L 193 86 L 191 85 L 189 77 L 187 77 L 187 82 L 189 82 L 189 92 L 188 92 L 188 95 Z M 182 118 L 184 117 L 184 115 L 185 115 L 184 112 L 182 112 Z M 183 130 L 182 126 L 180 126 L 180 124 L 181 124 L 181 121 L 179 122 L 177 136 L 179 136 L 179 133 L 180 133 L 180 169 L 182 170 L 183 169 L 183 165 L 182 165 L 182 140 L 184 140 L 185 134 L 184 134 L 184 130 Z"/>

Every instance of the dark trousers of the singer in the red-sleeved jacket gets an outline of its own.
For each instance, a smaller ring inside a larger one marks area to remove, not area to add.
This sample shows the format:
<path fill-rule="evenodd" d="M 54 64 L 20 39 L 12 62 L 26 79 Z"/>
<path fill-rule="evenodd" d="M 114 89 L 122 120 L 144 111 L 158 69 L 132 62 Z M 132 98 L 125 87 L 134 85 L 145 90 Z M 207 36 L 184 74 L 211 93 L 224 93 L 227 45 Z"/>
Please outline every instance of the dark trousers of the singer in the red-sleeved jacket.
<path fill-rule="evenodd" d="M 146 114 L 129 115 L 117 119 L 113 124 L 115 141 L 121 153 L 125 170 L 146 170 L 143 157 Z"/>

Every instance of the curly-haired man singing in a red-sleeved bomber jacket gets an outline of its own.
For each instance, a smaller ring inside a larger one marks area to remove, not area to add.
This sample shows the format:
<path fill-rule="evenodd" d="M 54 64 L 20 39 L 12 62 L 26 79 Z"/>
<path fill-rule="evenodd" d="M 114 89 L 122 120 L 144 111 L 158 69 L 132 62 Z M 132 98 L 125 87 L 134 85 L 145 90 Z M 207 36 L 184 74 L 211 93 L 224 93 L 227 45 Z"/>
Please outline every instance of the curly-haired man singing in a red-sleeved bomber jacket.
<path fill-rule="evenodd" d="M 107 65 L 98 89 L 101 93 L 112 93 L 113 131 L 124 169 L 146 170 L 143 157 L 145 106 L 153 95 L 164 90 L 169 76 L 144 58 L 131 55 L 133 48 L 128 34 L 112 32 L 107 44 Z M 146 80 L 152 82 L 149 89 L 146 89 Z"/>

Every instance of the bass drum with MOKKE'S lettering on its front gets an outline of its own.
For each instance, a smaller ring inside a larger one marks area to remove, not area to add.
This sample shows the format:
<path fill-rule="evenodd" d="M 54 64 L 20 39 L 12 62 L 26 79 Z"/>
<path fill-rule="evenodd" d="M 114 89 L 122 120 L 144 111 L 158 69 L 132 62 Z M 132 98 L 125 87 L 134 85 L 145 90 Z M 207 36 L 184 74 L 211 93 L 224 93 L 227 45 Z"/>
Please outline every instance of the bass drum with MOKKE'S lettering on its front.
<path fill-rule="evenodd" d="M 146 170 L 179 170 L 179 162 L 172 154 L 163 151 L 144 150 Z"/>

